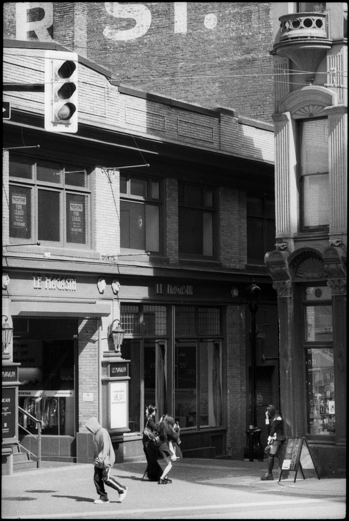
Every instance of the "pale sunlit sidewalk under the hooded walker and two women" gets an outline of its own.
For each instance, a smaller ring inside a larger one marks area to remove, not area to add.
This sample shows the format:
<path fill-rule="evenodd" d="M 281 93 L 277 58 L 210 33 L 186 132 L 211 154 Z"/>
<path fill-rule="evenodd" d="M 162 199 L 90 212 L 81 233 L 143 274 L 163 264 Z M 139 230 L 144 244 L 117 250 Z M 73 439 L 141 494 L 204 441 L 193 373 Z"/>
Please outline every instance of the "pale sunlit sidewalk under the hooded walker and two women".
<path fill-rule="evenodd" d="M 110 503 L 95 505 L 93 500 L 97 499 L 97 494 L 92 465 L 43 462 L 41 469 L 3 477 L 2 518 L 64 518 L 67 514 L 78 517 L 81 512 L 86 516 L 101 510 L 107 518 L 109 511 L 115 515 L 118 511 L 122 514 L 125 510 L 158 505 L 157 483 L 141 481 L 145 468 L 146 463 L 142 462 L 116 464 L 111 475 L 128 487 L 127 498 L 121 504 L 117 492 L 105 487 Z M 171 508 L 200 500 L 202 504 L 229 503 L 235 497 L 258 501 L 261 495 L 265 495 L 260 492 L 321 498 L 344 497 L 346 493 L 345 479 L 319 480 L 316 477 L 304 480 L 298 472 L 295 483 L 294 473 L 290 473 L 293 477 L 279 483 L 279 473 L 274 471 L 274 481 L 261 481 L 260 477 L 265 472 L 265 462 L 179 460 L 174 463 L 169 475 L 173 483 L 171 487 L 161 488 L 161 497 L 169 502 Z M 102 508 L 98 510 L 100 506 Z"/>

